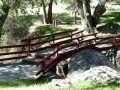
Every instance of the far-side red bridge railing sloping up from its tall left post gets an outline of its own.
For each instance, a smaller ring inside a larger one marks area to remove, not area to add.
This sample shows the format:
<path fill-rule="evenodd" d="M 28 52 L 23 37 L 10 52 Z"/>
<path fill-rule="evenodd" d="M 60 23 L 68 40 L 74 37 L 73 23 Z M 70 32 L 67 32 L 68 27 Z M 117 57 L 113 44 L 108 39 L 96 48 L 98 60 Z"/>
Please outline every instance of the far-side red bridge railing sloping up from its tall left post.
<path fill-rule="evenodd" d="M 73 38 L 73 36 L 75 36 L 76 34 L 81 34 L 83 32 L 83 31 L 80 31 L 80 32 L 75 32 L 75 31 L 76 29 L 65 31 L 65 32 L 59 32 L 55 34 L 50 34 L 50 35 L 43 35 L 43 36 L 38 36 L 34 38 L 23 39 L 21 40 L 21 42 L 27 43 L 28 45 L 27 54 L 28 56 L 31 56 L 30 54 L 31 52 L 52 47 L 51 44 L 54 44 L 55 42 L 60 41 L 61 39 L 63 40 L 63 39 Z"/>

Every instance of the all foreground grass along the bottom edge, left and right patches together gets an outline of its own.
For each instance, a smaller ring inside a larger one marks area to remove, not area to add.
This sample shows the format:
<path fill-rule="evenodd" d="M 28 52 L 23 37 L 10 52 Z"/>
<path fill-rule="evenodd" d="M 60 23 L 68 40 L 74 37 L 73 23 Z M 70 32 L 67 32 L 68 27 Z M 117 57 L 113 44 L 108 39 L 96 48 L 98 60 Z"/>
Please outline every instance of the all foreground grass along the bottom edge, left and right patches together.
<path fill-rule="evenodd" d="M 50 80 L 51 81 L 51 80 Z M 50 81 L 34 79 L 0 81 L 0 90 L 41 90 L 40 88 Z M 46 87 L 49 90 L 56 90 L 53 87 Z M 61 90 L 119 90 L 120 81 L 109 81 L 103 83 L 80 81 L 70 84 L 69 88 Z M 46 89 L 45 89 L 46 90 Z M 58 89 L 59 90 L 59 89 Z"/>

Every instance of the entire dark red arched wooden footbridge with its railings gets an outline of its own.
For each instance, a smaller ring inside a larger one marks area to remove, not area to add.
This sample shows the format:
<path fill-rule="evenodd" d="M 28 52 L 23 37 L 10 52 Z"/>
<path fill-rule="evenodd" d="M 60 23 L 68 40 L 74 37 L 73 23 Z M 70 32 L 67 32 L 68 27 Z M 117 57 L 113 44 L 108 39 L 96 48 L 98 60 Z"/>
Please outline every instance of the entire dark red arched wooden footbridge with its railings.
<path fill-rule="evenodd" d="M 21 40 L 19 45 L 0 46 L 0 61 L 20 60 L 40 67 L 37 79 L 44 77 L 58 62 L 84 49 L 106 50 L 120 46 L 120 36 L 100 38 L 98 33 L 68 30 Z M 15 51 L 16 50 L 16 51 Z"/>

